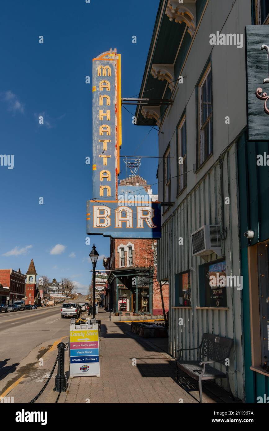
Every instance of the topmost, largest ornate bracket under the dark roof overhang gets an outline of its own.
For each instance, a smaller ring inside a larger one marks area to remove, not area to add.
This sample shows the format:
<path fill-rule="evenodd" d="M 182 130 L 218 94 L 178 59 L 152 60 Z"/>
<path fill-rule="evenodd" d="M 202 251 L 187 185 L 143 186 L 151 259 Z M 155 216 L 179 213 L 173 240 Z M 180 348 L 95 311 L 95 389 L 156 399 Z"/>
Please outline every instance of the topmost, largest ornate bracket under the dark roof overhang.
<path fill-rule="evenodd" d="M 184 0 L 183 3 L 178 3 L 175 0 L 168 0 L 166 6 L 166 15 L 169 21 L 185 22 L 188 26 L 188 33 L 193 37 L 196 29 L 196 0 Z M 188 7 L 187 7 L 188 6 Z"/>

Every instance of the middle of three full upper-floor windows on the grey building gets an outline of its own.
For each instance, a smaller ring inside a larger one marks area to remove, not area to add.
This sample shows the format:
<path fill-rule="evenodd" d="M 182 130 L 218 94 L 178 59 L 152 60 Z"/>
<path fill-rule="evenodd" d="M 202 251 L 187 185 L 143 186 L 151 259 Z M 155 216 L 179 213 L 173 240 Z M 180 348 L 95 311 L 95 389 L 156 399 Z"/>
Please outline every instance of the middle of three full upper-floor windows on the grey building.
<path fill-rule="evenodd" d="M 187 132 L 186 116 L 178 126 L 178 193 L 187 185 Z"/>

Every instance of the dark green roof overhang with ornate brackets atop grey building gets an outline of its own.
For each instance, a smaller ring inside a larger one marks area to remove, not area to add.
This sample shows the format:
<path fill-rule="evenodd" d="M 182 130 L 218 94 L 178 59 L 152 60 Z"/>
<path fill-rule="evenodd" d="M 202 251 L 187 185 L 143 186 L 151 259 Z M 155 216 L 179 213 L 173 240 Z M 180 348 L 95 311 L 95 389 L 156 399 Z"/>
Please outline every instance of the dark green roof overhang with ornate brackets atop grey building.
<path fill-rule="evenodd" d="M 160 100 L 158 104 L 138 104 L 135 112 L 137 125 L 158 126 L 171 103 L 178 81 L 178 61 L 181 42 L 181 56 L 191 44 L 196 30 L 196 0 L 160 0 L 139 98 Z M 180 60 L 180 59 L 179 59 Z M 180 61 L 178 61 L 180 63 Z"/>

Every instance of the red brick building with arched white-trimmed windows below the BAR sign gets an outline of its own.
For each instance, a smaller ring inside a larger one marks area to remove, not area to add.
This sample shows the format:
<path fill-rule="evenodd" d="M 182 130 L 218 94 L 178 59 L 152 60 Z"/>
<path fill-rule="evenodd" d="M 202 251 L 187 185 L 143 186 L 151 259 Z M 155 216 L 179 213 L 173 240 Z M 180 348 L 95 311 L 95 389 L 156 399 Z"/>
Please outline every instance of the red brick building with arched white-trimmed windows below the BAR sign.
<path fill-rule="evenodd" d="M 108 272 L 105 306 L 113 312 L 163 315 L 160 284 L 157 281 L 156 240 L 110 238 L 110 256 L 103 260 Z M 165 311 L 168 284 L 162 283 Z"/>

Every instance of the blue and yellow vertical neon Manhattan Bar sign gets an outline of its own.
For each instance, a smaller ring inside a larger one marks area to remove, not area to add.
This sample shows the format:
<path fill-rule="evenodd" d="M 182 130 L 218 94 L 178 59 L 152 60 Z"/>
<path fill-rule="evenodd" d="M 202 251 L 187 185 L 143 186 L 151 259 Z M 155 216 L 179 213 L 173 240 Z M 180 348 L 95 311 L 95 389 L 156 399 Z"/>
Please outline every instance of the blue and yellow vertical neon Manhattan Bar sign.
<path fill-rule="evenodd" d="M 118 190 L 120 62 L 116 49 L 93 59 L 93 187 L 92 199 L 87 201 L 87 234 L 160 238 L 160 203 L 152 202 L 141 186 L 125 185 Z"/>

